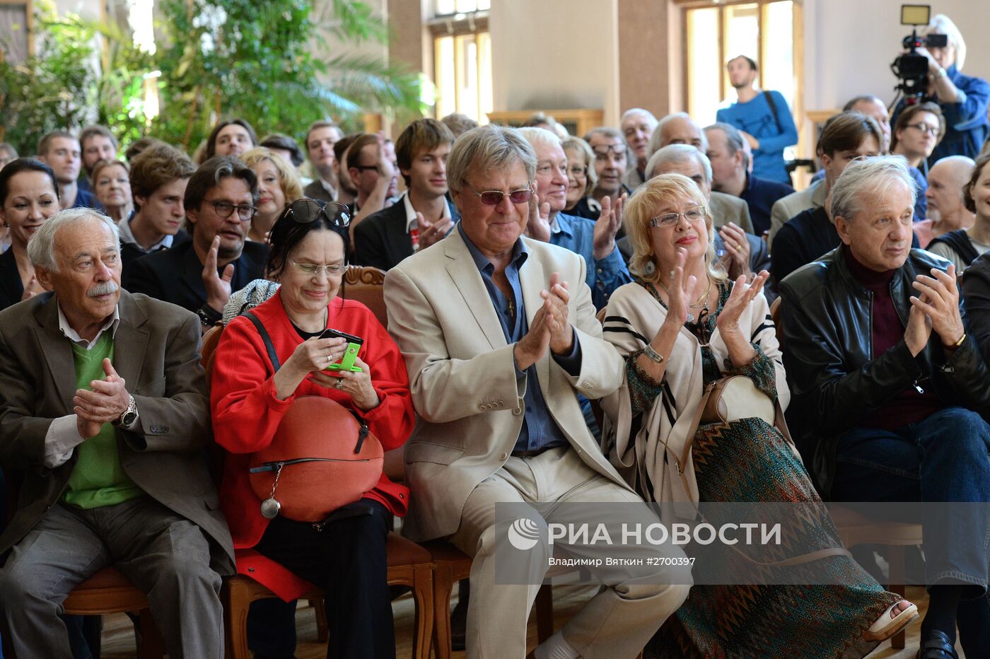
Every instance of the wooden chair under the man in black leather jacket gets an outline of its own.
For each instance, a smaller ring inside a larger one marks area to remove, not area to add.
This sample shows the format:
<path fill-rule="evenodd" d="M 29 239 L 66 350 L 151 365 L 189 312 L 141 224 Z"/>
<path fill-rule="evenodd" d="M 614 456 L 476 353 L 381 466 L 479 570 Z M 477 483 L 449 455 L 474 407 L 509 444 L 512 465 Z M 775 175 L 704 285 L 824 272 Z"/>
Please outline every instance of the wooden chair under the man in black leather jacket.
<path fill-rule="evenodd" d="M 770 305 L 770 318 L 776 328 L 777 342 L 783 351 L 784 332 L 780 326 L 781 300 L 781 298 L 777 298 Z M 904 597 L 906 548 L 924 544 L 922 525 L 899 521 L 875 521 L 865 518 L 850 508 L 835 504 L 830 504 L 829 512 L 833 521 L 836 522 L 839 538 L 846 549 L 857 544 L 881 544 L 887 547 L 887 559 L 890 563 L 890 578 L 887 589 L 891 593 L 897 593 Z M 890 637 L 891 647 L 897 650 L 904 649 L 904 638 L 905 632 L 902 629 Z"/>

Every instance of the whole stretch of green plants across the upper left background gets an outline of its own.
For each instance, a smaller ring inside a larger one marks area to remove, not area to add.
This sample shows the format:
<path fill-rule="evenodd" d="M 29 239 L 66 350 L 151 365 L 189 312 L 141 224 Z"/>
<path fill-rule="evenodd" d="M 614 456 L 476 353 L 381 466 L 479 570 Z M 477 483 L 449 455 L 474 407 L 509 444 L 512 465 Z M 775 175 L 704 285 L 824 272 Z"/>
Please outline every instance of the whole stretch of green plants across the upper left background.
<path fill-rule="evenodd" d="M 50 0 L 36 7 L 37 56 L 0 62 L 5 140 L 25 152 L 49 131 L 94 120 L 125 145 L 149 135 L 191 151 L 225 117 L 246 119 L 259 136 L 301 139 L 317 119 L 351 128 L 363 113 L 405 120 L 426 109 L 415 72 L 352 52 L 388 37 L 360 0 L 331 0 L 317 16 L 313 0 L 162 0 L 164 40 L 153 55 L 116 25 L 59 17 Z M 153 117 L 148 86 L 158 96 Z"/>

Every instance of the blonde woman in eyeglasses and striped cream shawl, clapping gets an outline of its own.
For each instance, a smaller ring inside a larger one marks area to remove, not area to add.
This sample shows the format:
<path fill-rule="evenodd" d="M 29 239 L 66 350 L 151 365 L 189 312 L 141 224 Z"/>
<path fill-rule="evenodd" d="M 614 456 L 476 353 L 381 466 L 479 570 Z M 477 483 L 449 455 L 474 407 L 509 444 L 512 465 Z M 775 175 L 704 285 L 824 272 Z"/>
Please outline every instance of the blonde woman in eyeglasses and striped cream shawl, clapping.
<path fill-rule="evenodd" d="M 780 348 L 759 295 L 766 271 L 746 284 L 715 265 L 705 197 L 680 174 L 647 181 L 623 222 L 638 279 L 612 294 L 605 313 L 603 336 L 627 364 L 626 382 L 603 401 L 614 461 L 645 474 L 631 484 L 646 501 L 786 502 L 821 511 L 799 530 L 785 530 L 787 542 L 770 562 L 841 548 L 797 451 L 776 427 L 749 418 L 702 424 L 689 437 L 691 424 L 679 423 L 694 418 L 705 386 L 728 375 L 750 378 L 779 406 L 778 415 L 786 408 Z M 640 428 L 635 436 L 633 426 Z M 680 464 L 674 457 L 685 450 L 690 457 Z M 914 605 L 885 592 L 847 553 L 758 572 L 742 553 L 723 554 L 733 563 L 729 573 L 749 570 L 771 584 L 848 586 L 695 585 L 645 657 L 863 656 L 917 616 Z"/>

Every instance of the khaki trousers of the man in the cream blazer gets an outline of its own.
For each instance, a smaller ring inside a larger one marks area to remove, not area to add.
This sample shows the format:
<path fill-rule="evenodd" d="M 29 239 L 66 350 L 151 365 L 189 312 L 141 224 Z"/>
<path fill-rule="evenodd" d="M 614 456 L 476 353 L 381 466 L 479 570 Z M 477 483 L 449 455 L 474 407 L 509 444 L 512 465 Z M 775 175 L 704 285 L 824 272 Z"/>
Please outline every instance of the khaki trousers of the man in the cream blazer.
<path fill-rule="evenodd" d="M 610 528 L 612 537 L 622 535 L 619 527 L 623 522 L 656 521 L 637 495 L 593 471 L 570 446 L 553 448 L 535 457 L 510 457 L 467 498 L 460 527 L 449 538 L 474 559 L 467 609 L 466 641 L 470 659 L 525 657 L 527 620 L 540 590 L 537 582 L 529 586 L 496 582 L 495 549 L 500 543 L 504 547 L 508 542 L 506 525 L 497 524 L 495 519 L 495 504 L 502 502 L 629 504 L 622 508 L 622 518 L 609 520 L 610 526 L 614 526 Z M 573 509 L 580 507 L 563 508 L 543 516 L 545 521 L 566 523 L 568 517 L 574 518 Z M 560 547 L 562 543 L 557 540 L 554 544 Z M 608 555 L 613 557 L 622 557 L 624 552 L 628 557 L 638 558 L 648 552 L 656 557 L 684 557 L 674 546 L 608 549 Z M 543 551 L 518 553 L 530 557 L 531 574 L 545 574 L 548 547 Z M 687 568 L 646 566 L 636 570 L 630 579 L 602 590 L 563 626 L 564 638 L 585 659 L 636 657 L 667 616 L 687 598 L 689 585 L 669 583 L 690 584 L 689 577 L 685 578 Z"/>

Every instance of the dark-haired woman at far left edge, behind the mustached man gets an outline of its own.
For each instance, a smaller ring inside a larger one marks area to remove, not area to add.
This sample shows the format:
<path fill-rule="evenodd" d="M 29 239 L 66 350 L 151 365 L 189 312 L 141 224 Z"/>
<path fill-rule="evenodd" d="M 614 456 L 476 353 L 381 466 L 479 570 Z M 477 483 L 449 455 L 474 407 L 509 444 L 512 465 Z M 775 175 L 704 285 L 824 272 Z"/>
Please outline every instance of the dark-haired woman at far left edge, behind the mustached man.
<path fill-rule="evenodd" d="M 10 233 L 10 248 L 0 254 L 0 310 L 42 293 L 28 241 L 58 212 L 54 172 L 34 158 L 18 158 L 0 171 L 0 221 Z"/>

